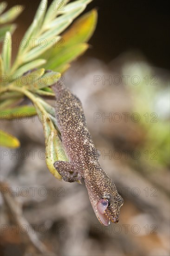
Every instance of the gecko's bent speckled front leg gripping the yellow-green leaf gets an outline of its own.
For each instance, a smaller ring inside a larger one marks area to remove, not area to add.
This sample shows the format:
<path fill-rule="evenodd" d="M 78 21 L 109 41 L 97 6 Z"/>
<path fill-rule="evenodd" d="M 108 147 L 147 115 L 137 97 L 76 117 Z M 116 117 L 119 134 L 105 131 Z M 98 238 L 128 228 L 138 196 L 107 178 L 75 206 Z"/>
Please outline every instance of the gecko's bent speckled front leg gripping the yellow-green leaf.
<path fill-rule="evenodd" d="M 73 162 L 56 161 L 54 167 L 65 182 L 76 182 L 81 180 L 80 168 Z"/>

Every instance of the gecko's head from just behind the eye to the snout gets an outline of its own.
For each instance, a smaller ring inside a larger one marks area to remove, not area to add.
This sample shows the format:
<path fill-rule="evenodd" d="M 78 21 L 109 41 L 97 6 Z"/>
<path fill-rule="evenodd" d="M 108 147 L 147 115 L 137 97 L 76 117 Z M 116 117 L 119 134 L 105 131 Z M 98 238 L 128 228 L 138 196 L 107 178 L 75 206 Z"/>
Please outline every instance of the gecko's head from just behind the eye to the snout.
<path fill-rule="evenodd" d="M 104 194 L 96 203 L 95 212 L 99 222 L 105 226 L 109 226 L 111 222 L 117 223 L 123 202 L 123 198 L 118 194 L 117 190 L 114 190 L 113 194 Z"/>

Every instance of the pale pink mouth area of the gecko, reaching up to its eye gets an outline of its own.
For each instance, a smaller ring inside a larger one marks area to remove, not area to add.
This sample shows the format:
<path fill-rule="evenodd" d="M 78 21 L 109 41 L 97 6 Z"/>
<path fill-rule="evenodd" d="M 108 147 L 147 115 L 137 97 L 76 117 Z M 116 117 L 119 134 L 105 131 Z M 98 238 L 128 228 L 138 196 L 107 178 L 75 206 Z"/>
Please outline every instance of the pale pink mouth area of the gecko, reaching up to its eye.
<path fill-rule="evenodd" d="M 106 199 L 101 199 L 97 203 L 98 216 L 99 216 L 100 221 L 102 222 L 102 224 L 104 224 L 105 226 L 110 225 L 110 219 L 105 214 L 105 209 L 107 209 L 108 205 L 109 205 L 109 202 Z"/>

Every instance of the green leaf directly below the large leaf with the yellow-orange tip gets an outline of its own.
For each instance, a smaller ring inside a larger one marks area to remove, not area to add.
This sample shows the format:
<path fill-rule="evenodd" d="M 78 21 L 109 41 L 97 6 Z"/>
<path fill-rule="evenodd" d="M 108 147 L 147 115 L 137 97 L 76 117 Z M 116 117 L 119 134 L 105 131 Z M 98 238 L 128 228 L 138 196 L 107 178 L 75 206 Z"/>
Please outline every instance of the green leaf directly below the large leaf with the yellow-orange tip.
<path fill-rule="evenodd" d="M 52 69 L 58 71 L 63 65 L 75 60 L 79 55 L 83 54 L 88 48 L 86 43 L 74 45 L 68 48 L 64 48 L 57 58 L 53 57 L 46 64 L 46 69 Z"/>

